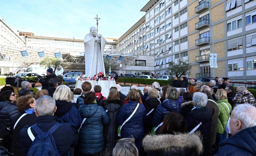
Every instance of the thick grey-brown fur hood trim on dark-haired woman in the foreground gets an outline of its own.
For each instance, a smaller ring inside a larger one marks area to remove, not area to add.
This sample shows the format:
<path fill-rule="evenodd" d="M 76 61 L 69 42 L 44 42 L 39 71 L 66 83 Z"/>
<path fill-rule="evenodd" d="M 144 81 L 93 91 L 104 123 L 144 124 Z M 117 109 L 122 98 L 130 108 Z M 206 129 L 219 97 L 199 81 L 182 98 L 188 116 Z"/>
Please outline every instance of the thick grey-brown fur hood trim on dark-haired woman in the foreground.
<path fill-rule="evenodd" d="M 161 134 L 147 135 L 143 138 L 142 145 L 146 152 L 164 150 L 183 151 L 185 149 L 194 149 L 199 155 L 203 151 L 200 133 L 177 133 L 177 134 Z"/>

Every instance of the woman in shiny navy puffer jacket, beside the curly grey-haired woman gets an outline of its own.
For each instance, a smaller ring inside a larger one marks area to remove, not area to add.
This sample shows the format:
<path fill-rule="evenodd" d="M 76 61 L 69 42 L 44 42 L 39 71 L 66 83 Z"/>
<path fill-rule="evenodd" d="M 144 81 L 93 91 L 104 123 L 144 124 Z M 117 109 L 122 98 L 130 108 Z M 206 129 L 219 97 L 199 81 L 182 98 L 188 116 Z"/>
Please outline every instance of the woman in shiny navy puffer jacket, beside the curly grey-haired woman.
<path fill-rule="evenodd" d="M 181 113 L 181 105 L 179 105 L 178 101 L 179 95 L 179 91 L 176 88 L 170 87 L 167 89 L 166 100 L 157 107 L 156 113 L 152 118 L 152 126 L 158 126 L 162 123 L 169 112 Z"/>

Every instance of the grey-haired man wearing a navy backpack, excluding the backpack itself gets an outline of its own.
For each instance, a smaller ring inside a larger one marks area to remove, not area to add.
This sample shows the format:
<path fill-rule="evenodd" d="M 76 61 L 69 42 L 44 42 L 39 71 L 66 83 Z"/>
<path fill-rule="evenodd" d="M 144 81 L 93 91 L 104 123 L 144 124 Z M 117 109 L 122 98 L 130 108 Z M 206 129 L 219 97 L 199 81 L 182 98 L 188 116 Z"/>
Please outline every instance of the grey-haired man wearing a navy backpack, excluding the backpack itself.
<path fill-rule="evenodd" d="M 53 125 L 59 122 L 59 119 L 54 116 L 56 110 L 55 100 L 52 97 L 44 95 L 37 99 L 35 108 L 37 115 L 36 124 L 43 132 L 49 131 Z M 33 142 L 28 134 L 29 127 L 30 125 L 27 125 L 20 131 L 20 144 L 23 155 L 27 155 Z M 34 131 L 33 126 L 30 130 L 34 137 L 38 135 Z M 52 135 L 55 139 L 57 150 L 61 155 L 67 155 L 70 147 L 74 147 L 77 143 L 76 132 L 69 123 L 61 124 Z"/>

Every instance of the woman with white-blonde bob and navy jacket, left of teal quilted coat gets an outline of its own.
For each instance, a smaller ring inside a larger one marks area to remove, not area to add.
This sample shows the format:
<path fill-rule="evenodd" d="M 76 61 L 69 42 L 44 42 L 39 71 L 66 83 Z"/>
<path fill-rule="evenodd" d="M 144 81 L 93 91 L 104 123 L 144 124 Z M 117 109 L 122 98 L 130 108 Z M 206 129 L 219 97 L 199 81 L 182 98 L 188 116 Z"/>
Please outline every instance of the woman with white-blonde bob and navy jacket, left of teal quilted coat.
<path fill-rule="evenodd" d="M 76 129 L 79 128 L 82 119 L 78 109 L 69 102 L 70 92 L 70 88 L 66 85 L 57 87 L 53 94 L 57 107 L 57 111 L 54 115 L 60 119 L 61 123 L 70 123 L 76 131 Z"/>

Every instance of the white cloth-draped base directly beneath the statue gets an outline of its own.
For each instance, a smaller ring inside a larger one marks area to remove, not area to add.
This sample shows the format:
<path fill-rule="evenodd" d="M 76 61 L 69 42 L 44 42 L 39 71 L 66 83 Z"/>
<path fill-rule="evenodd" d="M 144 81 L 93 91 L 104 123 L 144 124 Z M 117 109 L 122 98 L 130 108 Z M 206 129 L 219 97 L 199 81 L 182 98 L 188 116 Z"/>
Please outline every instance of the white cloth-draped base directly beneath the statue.
<path fill-rule="evenodd" d="M 115 80 L 99 80 L 99 81 L 85 80 L 85 81 L 88 81 L 88 82 L 91 83 L 91 90 L 93 90 L 94 86 L 100 85 L 101 94 L 106 98 L 108 97 L 109 89 L 116 85 Z M 82 81 L 78 80 L 77 84 L 76 84 L 76 88 L 82 89 L 81 85 L 85 81 L 84 80 L 82 80 Z"/>

